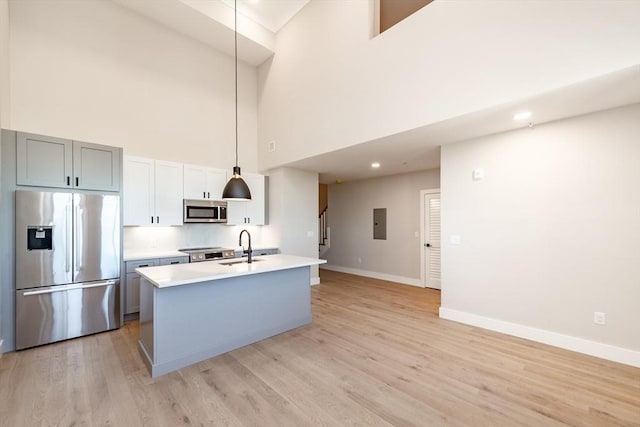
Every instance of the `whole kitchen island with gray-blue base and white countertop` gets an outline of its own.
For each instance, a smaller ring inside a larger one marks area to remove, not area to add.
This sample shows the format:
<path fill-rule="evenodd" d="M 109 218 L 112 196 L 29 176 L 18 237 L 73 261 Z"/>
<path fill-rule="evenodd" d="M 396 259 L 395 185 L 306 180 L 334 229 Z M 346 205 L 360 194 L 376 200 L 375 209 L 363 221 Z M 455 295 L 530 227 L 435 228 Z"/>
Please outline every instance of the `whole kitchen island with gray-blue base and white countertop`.
<path fill-rule="evenodd" d="M 157 377 L 311 323 L 312 265 L 292 255 L 138 268 L 140 353 Z"/>

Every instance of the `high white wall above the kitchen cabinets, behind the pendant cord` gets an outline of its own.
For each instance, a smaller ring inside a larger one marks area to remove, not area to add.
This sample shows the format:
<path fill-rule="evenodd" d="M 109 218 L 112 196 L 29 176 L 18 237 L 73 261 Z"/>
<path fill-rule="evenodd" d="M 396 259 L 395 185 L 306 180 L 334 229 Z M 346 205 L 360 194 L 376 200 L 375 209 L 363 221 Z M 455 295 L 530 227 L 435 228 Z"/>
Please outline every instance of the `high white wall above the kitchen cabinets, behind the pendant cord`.
<path fill-rule="evenodd" d="M 111 1 L 9 1 L 11 123 L 230 168 L 233 58 Z M 240 166 L 257 171 L 256 70 L 239 67 Z"/>

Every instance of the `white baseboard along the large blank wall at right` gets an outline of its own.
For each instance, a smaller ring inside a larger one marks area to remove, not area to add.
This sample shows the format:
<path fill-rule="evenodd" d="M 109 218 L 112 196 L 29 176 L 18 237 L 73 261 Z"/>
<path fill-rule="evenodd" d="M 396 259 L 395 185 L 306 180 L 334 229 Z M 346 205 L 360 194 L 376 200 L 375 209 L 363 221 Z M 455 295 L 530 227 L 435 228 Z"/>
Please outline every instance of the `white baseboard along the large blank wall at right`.
<path fill-rule="evenodd" d="M 640 351 L 440 307 L 440 317 L 640 368 Z"/>

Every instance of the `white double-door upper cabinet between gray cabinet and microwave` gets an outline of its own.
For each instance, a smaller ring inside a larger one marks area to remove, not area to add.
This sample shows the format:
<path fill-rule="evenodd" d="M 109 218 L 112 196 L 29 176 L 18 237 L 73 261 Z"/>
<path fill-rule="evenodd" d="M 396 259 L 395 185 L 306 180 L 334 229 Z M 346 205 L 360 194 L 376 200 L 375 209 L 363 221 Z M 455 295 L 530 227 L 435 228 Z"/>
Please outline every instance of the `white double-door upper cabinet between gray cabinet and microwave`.
<path fill-rule="evenodd" d="M 182 164 L 124 158 L 124 225 L 182 225 Z"/>

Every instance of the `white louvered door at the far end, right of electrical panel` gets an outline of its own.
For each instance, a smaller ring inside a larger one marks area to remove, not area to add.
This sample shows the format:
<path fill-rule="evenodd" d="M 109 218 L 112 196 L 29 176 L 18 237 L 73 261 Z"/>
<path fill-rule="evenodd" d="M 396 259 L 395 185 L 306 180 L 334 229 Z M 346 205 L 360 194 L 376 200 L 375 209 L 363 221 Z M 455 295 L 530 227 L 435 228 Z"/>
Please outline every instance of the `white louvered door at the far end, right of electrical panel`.
<path fill-rule="evenodd" d="M 440 193 L 424 197 L 424 286 L 440 289 Z"/>

